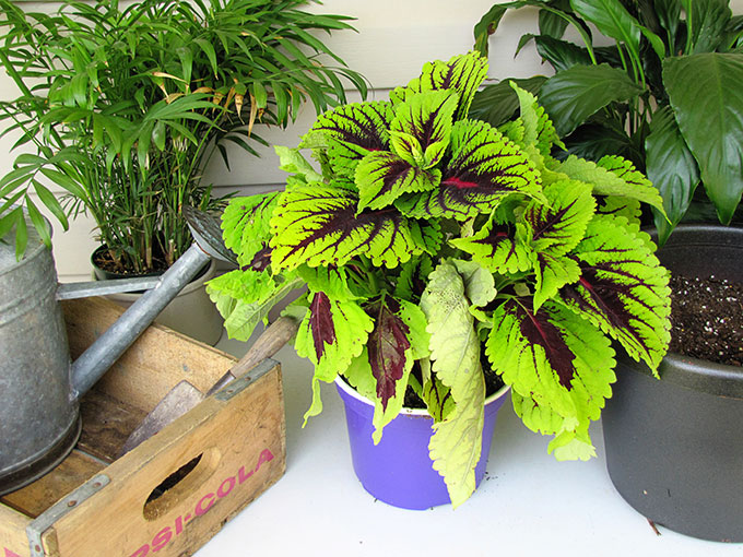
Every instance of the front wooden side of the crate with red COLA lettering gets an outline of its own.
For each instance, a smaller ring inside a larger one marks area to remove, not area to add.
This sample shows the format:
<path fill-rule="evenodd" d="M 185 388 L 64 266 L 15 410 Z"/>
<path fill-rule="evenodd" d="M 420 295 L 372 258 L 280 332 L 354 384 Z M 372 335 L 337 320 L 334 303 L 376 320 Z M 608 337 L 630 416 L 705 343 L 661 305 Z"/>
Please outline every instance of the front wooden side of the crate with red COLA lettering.
<path fill-rule="evenodd" d="M 232 400 L 207 399 L 109 465 L 110 483 L 60 518 L 47 533 L 49 544 L 61 557 L 130 557 L 144 545 L 149 554 L 191 555 L 281 477 L 285 450 L 276 366 Z M 182 483 L 145 509 L 153 489 L 199 455 Z"/>

